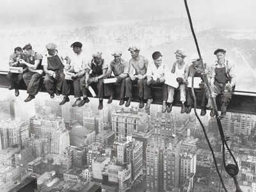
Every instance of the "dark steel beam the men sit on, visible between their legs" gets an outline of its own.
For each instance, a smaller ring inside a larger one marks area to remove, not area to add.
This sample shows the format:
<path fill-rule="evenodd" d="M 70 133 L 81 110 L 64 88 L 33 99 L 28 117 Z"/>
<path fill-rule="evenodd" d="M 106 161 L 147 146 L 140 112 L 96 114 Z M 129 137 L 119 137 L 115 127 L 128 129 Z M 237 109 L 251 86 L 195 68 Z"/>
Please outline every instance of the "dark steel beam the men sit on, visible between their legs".
<path fill-rule="evenodd" d="M 8 88 L 9 86 L 8 79 L 6 77 L 7 74 L 8 72 L 6 71 L 0 71 L 0 87 L 1 88 Z M 20 84 L 20 90 L 26 90 L 26 85 L 24 82 Z M 41 92 L 46 92 L 45 88 L 42 88 Z M 71 92 L 72 92 L 71 95 L 73 95 L 74 94 L 73 88 L 71 89 Z M 115 92 L 115 99 L 120 100 L 118 96 L 120 95 L 119 84 L 114 84 L 114 92 Z M 132 93 L 134 98 L 133 101 L 139 102 L 138 89 L 136 85 L 132 87 Z M 197 89 L 195 90 L 195 94 L 196 94 L 197 108 L 200 108 L 202 93 L 200 92 L 200 90 Z M 89 95 L 89 96 L 92 97 L 92 95 Z M 154 100 L 153 104 L 162 104 L 162 89 L 160 87 L 153 87 L 152 97 Z M 108 98 L 105 98 L 105 99 L 108 99 Z M 175 98 L 173 101 L 173 106 L 181 106 L 181 102 L 179 100 L 180 100 L 179 90 L 175 90 Z M 256 115 L 256 93 L 235 91 L 234 93 L 232 93 L 232 99 L 228 104 L 227 111 L 232 113 L 247 113 L 247 114 Z"/>

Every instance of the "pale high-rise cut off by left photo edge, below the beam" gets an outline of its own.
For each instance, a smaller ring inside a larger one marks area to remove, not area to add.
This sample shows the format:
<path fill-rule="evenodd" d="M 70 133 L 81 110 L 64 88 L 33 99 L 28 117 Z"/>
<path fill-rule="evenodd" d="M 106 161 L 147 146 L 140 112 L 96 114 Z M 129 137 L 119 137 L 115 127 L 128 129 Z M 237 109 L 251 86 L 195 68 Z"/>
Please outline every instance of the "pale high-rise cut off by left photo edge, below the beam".
<path fill-rule="evenodd" d="M 29 136 L 28 124 L 22 120 L 6 118 L 0 122 L 1 146 L 7 148 L 10 145 L 24 145 Z"/>

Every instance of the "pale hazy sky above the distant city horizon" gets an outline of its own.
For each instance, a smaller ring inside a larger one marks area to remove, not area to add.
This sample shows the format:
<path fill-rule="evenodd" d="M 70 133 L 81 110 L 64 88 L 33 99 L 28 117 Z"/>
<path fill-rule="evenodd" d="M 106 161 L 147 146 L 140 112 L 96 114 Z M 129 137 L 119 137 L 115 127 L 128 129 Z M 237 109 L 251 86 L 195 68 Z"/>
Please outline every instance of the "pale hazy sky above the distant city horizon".
<path fill-rule="evenodd" d="M 183 0 L 0 0 L 1 26 L 51 26 L 187 17 Z M 193 18 L 252 24 L 255 0 L 188 0 Z"/>

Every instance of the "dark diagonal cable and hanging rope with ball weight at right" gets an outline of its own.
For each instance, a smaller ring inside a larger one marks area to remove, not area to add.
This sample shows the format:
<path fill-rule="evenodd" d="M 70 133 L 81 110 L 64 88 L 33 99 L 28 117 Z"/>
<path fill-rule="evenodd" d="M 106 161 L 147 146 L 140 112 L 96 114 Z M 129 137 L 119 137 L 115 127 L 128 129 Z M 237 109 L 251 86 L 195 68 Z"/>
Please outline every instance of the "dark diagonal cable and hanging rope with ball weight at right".
<path fill-rule="evenodd" d="M 188 13 L 188 19 L 189 19 L 189 24 L 190 24 L 190 28 L 191 28 L 191 32 L 193 34 L 193 38 L 195 40 L 195 44 L 196 44 L 196 49 L 197 49 L 197 52 L 198 52 L 198 56 L 200 58 L 200 63 L 201 63 L 201 66 L 202 66 L 202 69 L 203 71 L 205 71 L 205 67 L 204 67 L 204 63 L 202 61 L 202 56 L 201 56 L 201 53 L 200 53 L 200 49 L 199 49 L 199 46 L 198 46 L 198 42 L 196 40 L 196 35 L 195 35 L 195 31 L 193 29 L 193 24 L 192 24 L 192 20 L 191 20 L 191 16 L 190 16 L 190 13 L 189 13 L 189 8 L 188 8 L 188 3 L 187 3 L 187 0 L 184 0 L 184 3 L 185 3 L 185 6 L 186 6 L 186 12 Z M 216 100 L 213 96 L 213 93 L 212 93 L 212 90 L 211 90 L 211 86 L 209 84 L 209 81 L 207 79 L 207 76 L 206 74 L 203 75 L 203 79 L 204 79 L 204 82 L 205 84 L 207 85 L 207 88 L 209 90 L 209 93 L 211 95 L 210 99 L 212 100 L 212 103 L 213 103 L 213 107 L 214 107 L 214 111 L 215 111 L 215 115 L 216 115 L 216 120 L 217 120 L 217 124 L 218 124 L 218 128 L 219 128 L 219 132 L 220 132 L 220 136 L 221 136 L 221 140 L 222 140 L 222 153 L 223 153 L 223 164 L 224 164 L 224 168 L 226 170 L 226 172 L 228 173 L 228 175 L 230 175 L 230 177 L 232 177 L 234 179 L 234 182 L 236 184 L 236 192 L 242 192 L 241 188 L 239 187 L 239 184 L 237 182 L 237 179 L 236 179 L 236 175 L 237 173 L 239 172 L 239 168 L 238 168 L 238 164 L 237 164 L 237 161 L 236 161 L 236 158 L 234 157 L 234 155 L 232 154 L 230 148 L 228 147 L 228 144 L 227 144 L 227 141 L 228 141 L 228 138 L 225 138 L 225 134 L 224 134 L 224 131 L 223 131 L 223 128 L 222 128 L 222 125 L 221 125 L 221 120 L 220 120 L 220 116 L 218 114 L 218 108 L 217 108 L 217 104 L 216 104 Z M 225 187 L 225 184 L 223 182 L 223 179 L 221 177 L 221 173 L 220 173 L 220 170 L 218 169 L 218 165 L 216 163 L 216 159 L 215 159 L 215 156 L 214 156 L 214 152 L 212 150 L 212 147 L 211 147 L 211 143 L 209 142 L 209 139 L 207 137 L 207 133 L 205 131 L 205 128 L 204 128 L 204 125 L 202 124 L 202 121 L 200 120 L 198 114 L 196 113 L 196 96 L 195 96 L 195 92 L 194 92 L 194 74 L 193 74 L 193 77 L 192 77 L 192 87 L 191 87 L 191 90 L 192 90 L 192 93 L 193 93 L 193 99 L 194 99 L 194 111 L 195 111 L 195 115 L 196 115 L 196 118 L 198 118 L 198 121 L 200 122 L 200 125 L 202 126 L 202 129 L 204 131 L 204 134 L 205 134 L 205 138 L 207 140 L 207 143 L 211 149 L 211 152 L 212 152 L 212 157 L 214 159 L 214 164 L 216 166 L 216 170 L 217 170 L 217 173 L 220 177 L 220 181 L 221 181 L 221 184 L 223 186 L 223 188 L 225 189 L 225 191 L 227 191 L 226 187 Z M 225 147 L 227 148 L 228 150 L 228 153 L 230 154 L 230 156 L 232 157 L 233 161 L 235 162 L 235 164 L 226 164 L 225 162 Z"/>

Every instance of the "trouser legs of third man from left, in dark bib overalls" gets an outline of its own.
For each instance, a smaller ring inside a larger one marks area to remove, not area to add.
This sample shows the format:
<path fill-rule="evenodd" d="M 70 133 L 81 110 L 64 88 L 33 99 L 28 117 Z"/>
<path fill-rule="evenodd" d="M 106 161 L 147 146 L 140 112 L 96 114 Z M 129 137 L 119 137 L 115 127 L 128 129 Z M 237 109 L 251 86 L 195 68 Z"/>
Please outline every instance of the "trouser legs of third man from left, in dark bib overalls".
<path fill-rule="evenodd" d="M 64 79 L 64 74 L 61 71 L 60 72 L 60 79 L 56 80 L 54 77 L 49 76 L 48 74 L 45 76 L 44 83 L 45 83 L 45 89 L 46 91 L 51 94 L 54 93 L 55 91 L 61 92 L 62 85 L 63 85 L 63 79 Z"/>

